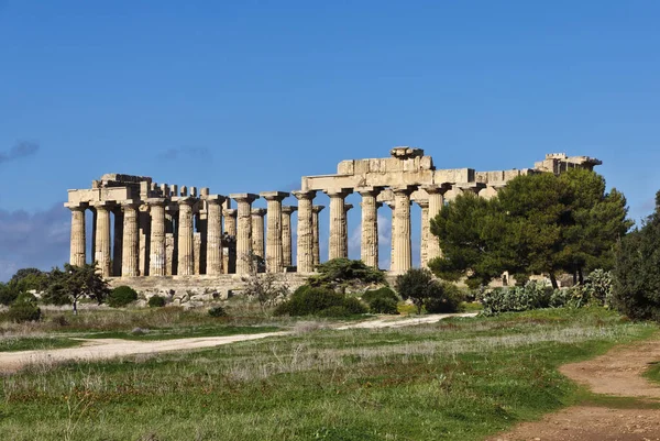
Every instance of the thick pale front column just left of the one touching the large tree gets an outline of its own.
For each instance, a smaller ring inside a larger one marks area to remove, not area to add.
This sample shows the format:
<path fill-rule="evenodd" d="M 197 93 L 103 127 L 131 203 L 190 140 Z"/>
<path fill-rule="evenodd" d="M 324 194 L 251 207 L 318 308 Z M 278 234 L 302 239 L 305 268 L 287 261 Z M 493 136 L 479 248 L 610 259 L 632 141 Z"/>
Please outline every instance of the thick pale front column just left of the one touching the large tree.
<path fill-rule="evenodd" d="M 394 213 L 396 217 L 394 235 L 394 272 L 405 273 L 413 266 L 413 254 L 410 243 L 410 194 L 414 186 L 395 187 Z"/>

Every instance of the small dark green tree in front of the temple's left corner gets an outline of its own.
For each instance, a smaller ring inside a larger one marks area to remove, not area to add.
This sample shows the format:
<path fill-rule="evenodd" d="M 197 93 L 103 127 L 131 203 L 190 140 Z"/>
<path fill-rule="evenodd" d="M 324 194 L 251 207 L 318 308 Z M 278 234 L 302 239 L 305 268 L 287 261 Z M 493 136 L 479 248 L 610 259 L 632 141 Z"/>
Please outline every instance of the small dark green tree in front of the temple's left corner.
<path fill-rule="evenodd" d="M 64 264 L 64 271 L 57 268 L 51 272 L 45 300 L 55 299 L 63 304 L 68 301 L 74 306 L 74 313 L 78 313 L 78 301 L 81 298 L 95 299 L 99 305 L 110 294 L 108 283 L 97 273 L 96 265 L 85 264 L 73 266 Z"/>

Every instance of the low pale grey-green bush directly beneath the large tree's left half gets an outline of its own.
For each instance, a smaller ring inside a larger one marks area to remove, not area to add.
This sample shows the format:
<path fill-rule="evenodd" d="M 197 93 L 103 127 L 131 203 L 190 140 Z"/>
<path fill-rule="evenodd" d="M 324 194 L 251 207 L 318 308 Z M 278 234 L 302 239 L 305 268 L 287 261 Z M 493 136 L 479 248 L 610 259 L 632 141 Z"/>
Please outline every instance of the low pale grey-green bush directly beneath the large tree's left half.
<path fill-rule="evenodd" d="M 542 282 L 529 280 L 524 287 L 493 289 L 484 294 L 481 302 L 484 306 L 484 316 L 495 316 L 499 312 L 548 308 L 552 296 L 552 288 Z"/>

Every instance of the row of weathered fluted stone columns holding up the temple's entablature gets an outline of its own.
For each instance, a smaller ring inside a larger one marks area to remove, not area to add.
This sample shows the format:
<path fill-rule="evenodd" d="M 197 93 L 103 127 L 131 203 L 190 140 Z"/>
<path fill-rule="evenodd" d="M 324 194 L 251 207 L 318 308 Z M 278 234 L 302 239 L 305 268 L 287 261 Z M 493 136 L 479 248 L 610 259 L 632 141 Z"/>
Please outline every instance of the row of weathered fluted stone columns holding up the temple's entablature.
<path fill-rule="evenodd" d="M 392 267 L 396 273 L 403 273 L 411 266 L 411 239 L 410 239 L 410 195 L 417 186 L 394 187 L 392 208 Z M 443 195 L 450 188 L 443 186 L 424 186 L 429 195 L 428 201 L 418 201 L 421 207 L 421 264 L 426 265 L 431 258 L 440 256 L 438 241 L 430 240 L 429 219 L 436 217 L 443 206 Z M 362 261 L 372 267 L 378 266 L 378 218 L 377 209 L 382 206 L 377 201 L 382 187 L 359 187 L 355 189 L 362 197 Z M 348 216 L 352 208 L 345 203 L 345 197 L 353 192 L 350 188 L 329 189 L 324 191 L 330 198 L 330 238 L 329 258 L 348 257 Z M 252 203 L 260 198 L 254 194 L 235 194 L 230 198 L 237 201 L 237 209 L 224 209 L 224 197 L 219 195 L 204 195 L 206 201 L 206 217 L 201 238 L 195 234 L 195 205 L 198 198 L 178 197 L 175 207 L 165 198 L 150 198 L 144 202 L 121 201 L 92 202 L 95 227 L 92 232 L 92 254 L 100 266 L 103 276 L 117 275 L 117 266 L 111 268 L 110 243 L 110 212 L 116 213 L 116 241 L 121 238 L 121 246 L 114 245 L 113 255 L 116 264 L 121 267 L 121 275 L 127 277 L 138 276 L 146 271 L 141 269 L 140 230 L 141 203 L 148 210 L 151 223 L 148 225 L 148 274 L 164 276 L 174 274 L 176 258 L 177 275 L 199 274 L 199 256 L 206 257 L 206 274 L 219 275 L 223 273 L 246 274 L 251 271 L 251 256 L 257 255 L 265 261 L 265 268 L 271 273 L 279 273 L 292 262 L 292 220 L 290 217 L 298 211 L 297 261 L 299 273 L 311 273 L 320 263 L 319 251 L 319 213 L 322 206 L 315 206 L 316 191 L 294 191 L 298 199 L 298 207 L 283 207 L 283 200 L 288 192 L 262 192 L 267 202 L 267 210 L 253 209 Z M 86 258 L 85 210 L 86 205 L 67 205 L 72 210 L 72 247 L 70 262 L 73 265 L 82 265 Z M 118 209 L 119 208 L 119 209 Z M 178 216 L 172 212 L 178 210 Z M 121 216 L 118 216 L 120 213 Z M 267 216 L 266 231 L 264 231 L 264 216 Z M 228 253 L 222 245 L 222 223 L 224 219 L 224 233 L 235 238 L 235 255 Z M 198 222 L 201 220 L 198 219 Z M 176 222 L 176 231 L 174 224 Z M 119 229 L 119 230 L 118 230 Z M 120 233 L 118 233 L 120 231 Z M 176 238 L 176 257 L 170 256 L 167 235 Z M 264 242 L 265 235 L 265 242 Z M 201 242 L 201 245 L 199 245 Z M 118 254 L 119 247 L 119 254 Z M 121 256 L 118 263 L 118 255 Z"/>

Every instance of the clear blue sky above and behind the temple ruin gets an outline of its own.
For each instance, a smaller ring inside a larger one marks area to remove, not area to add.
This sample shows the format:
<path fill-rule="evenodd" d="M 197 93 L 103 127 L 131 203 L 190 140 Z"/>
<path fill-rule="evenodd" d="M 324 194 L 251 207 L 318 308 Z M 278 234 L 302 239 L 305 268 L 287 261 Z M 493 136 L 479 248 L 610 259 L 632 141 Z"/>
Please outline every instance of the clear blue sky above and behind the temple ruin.
<path fill-rule="evenodd" d="M 290 190 L 395 145 L 440 168 L 595 156 L 639 220 L 659 20 L 657 1 L 0 0 L 0 280 L 68 258 L 66 189 L 105 173 Z"/>

